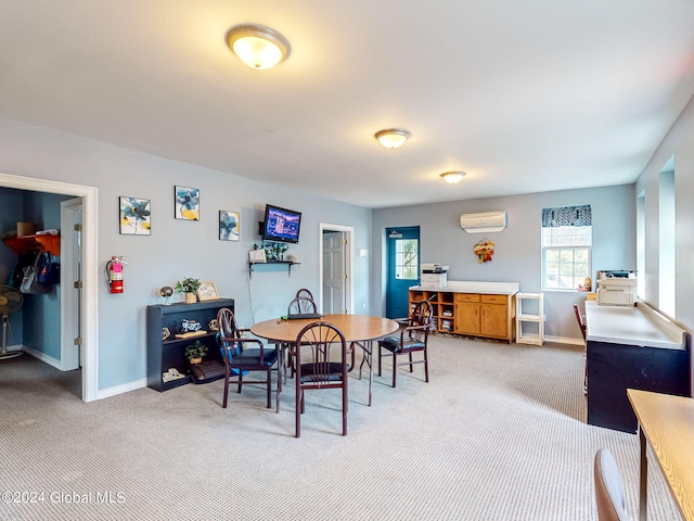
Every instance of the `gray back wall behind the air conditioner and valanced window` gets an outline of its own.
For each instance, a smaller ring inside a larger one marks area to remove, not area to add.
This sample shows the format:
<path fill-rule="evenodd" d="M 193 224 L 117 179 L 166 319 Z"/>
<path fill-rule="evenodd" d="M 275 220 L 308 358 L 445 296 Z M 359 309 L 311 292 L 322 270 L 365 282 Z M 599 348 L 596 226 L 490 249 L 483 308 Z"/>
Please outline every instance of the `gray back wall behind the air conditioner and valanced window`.
<path fill-rule="evenodd" d="M 542 208 L 577 204 L 590 204 L 592 207 L 592 272 L 597 269 L 635 269 L 633 185 L 375 209 L 372 233 L 373 258 L 377 266 L 373 270 L 372 283 L 377 291 L 372 295 L 372 307 L 385 310 L 385 264 L 381 262 L 385 228 L 420 226 L 422 262 L 450 266 L 450 280 L 518 282 L 520 291 L 539 292 Z M 461 214 L 490 211 L 507 213 L 505 230 L 467 233 L 460 227 Z M 494 242 L 494 255 L 491 262 L 479 264 L 473 247 L 483 238 Z M 584 294 L 577 291 L 544 292 L 545 334 L 580 339 L 573 305 L 582 300 Z"/>

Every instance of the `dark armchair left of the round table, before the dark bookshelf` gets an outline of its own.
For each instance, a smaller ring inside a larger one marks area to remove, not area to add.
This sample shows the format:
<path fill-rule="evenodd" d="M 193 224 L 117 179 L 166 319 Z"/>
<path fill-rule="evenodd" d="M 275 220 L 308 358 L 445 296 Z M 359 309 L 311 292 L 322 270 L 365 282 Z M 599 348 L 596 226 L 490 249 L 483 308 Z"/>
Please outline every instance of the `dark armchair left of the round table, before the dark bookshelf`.
<path fill-rule="evenodd" d="M 278 361 L 278 350 L 266 346 L 259 339 L 244 336 L 248 329 L 236 326 L 234 314 L 228 307 L 217 313 L 219 326 L 219 347 L 224 361 L 224 396 L 222 407 L 227 408 L 229 384 L 236 383 L 237 392 L 246 384 L 265 384 L 267 387 L 268 409 L 272 407 L 272 366 Z M 244 380 L 244 373 L 264 371 L 265 380 Z M 230 378 L 236 378 L 230 382 Z M 278 374 L 277 411 L 280 411 L 280 376 Z"/>

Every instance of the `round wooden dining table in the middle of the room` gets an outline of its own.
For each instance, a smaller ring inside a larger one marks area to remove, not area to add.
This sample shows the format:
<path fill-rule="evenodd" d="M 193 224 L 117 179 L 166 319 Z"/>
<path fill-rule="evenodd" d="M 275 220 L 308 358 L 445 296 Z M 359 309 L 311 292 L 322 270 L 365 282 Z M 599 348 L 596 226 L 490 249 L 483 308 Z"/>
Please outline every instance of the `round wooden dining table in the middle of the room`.
<path fill-rule="evenodd" d="M 272 319 L 258 322 L 250 327 L 250 332 L 269 342 L 291 344 L 309 323 L 317 320 L 330 322 L 342 331 L 348 344 L 356 344 L 363 351 L 362 366 L 369 366 L 369 405 L 373 387 L 373 341 L 396 332 L 399 323 L 389 318 L 372 317 L 369 315 L 323 315 L 322 318 L 305 318 L 295 320 Z M 361 378 L 361 366 L 359 367 Z"/>

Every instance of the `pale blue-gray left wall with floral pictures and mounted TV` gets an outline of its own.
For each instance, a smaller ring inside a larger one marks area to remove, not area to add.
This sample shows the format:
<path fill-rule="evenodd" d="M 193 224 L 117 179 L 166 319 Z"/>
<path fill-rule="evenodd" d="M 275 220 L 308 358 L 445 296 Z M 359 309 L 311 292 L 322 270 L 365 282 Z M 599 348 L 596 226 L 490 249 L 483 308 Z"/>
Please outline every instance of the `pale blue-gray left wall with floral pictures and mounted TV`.
<path fill-rule="evenodd" d="M 112 255 L 125 255 L 129 263 L 123 295 L 110 294 L 105 282 L 100 288 L 100 390 L 145 377 L 145 308 L 163 302 L 160 287 L 185 277 L 213 280 L 220 295 L 236 300 L 241 325 L 250 326 L 284 315 L 300 288 L 321 293 L 319 223 L 354 227 L 352 252 L 371 245 L 368 208 L 7 118 L 0 118 L 0 171 L 99 189 L 100 269 Z M 200 221 L 174 218 L 176 185 L 201 190 Z M 152 200 L 150 237 L 119 234 L 120 195 Z M 291 277 L 286 268 L 268 267 L 248 278 L 248 251 L 259 241 L 258 220 L 266 203 L 303 212 L 300 242 L 290 250 L 303 262 Z M 241 213 L 240 242 L 218 240 L 220 209 Z M 356 258 L 354 269 L 355 308 L 369 313 L 369 257 Z"/>

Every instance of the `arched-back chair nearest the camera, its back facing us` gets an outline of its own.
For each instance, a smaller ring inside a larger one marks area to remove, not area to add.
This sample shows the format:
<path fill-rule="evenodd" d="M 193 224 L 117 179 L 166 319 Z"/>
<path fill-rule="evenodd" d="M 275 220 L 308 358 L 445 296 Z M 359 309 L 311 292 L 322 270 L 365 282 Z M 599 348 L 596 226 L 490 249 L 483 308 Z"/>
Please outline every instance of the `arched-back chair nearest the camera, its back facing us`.
<path fill-rule="evenodd" d="M 339 329 L 325 321 L 306 326 L 296 336 L 293 347 L 296 382 L 296 437 L 301 435 L 301 415 L 306 391 L 340 389 L 343 403 L 343 435 L 347 435 L 347 343 Z"/>

